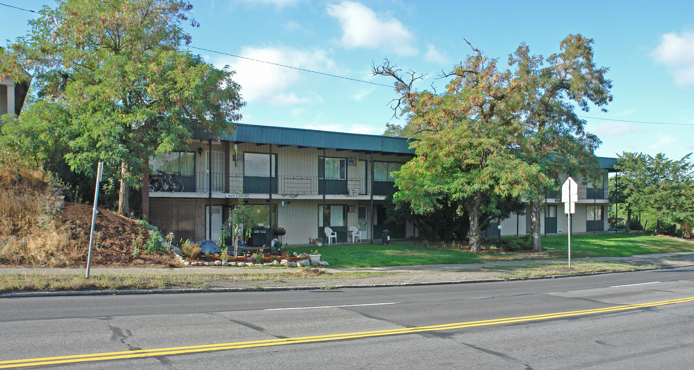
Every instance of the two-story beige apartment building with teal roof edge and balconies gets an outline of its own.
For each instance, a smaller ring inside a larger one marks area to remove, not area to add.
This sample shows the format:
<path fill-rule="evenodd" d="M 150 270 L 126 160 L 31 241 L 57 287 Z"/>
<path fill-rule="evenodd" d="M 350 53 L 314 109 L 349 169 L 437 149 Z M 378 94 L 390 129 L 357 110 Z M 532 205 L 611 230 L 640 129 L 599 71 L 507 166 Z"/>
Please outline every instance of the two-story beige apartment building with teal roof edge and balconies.
<path fill-rule="evenodd" d="M 418 236 L 412 224 L 386 225 L 384 201 L 395 191 L 389 174 L 414 156 L 404 138 L 247 124 L 221 140 L 203 132 L 194 137 L 189 151 L 149 162 L 154 174 L 179 172 L 182 191 L 142 187 L 144 217 L 164 232 L 174 231 L 177 239 L 219 239 L 239 199 L 251 208 L 253 226 L 269 229 L 267 243 L 278 227 L 287 232 L 286 244 L 322 238 L 325 226 L 338 242 L 348 241 L 350 226 L 361 230 L 363 239 L 380 239 L 384 228 L 394 239 Z M 609 171 L 611 160 L 601 159 Z M 561 199 L 552 196 L 543 232 L 566 233 Z M 607 175 L 598 186 L 583 184 L 573 230 L 604 230 L 607 203 Z M 489 236 L 498 233 L 496 226 L 487 229 Z M 530 230 L 529 217 L 513 215 L 501 226 L 502 235 L 523 235 Z"/>

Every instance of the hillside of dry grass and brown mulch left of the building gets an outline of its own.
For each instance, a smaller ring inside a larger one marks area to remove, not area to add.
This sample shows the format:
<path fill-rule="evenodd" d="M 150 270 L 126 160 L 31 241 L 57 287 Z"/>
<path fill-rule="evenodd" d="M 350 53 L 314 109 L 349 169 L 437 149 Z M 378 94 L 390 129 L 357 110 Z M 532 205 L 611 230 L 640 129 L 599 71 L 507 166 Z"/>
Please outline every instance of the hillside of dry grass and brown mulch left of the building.
<path fill-rule="evenodd" d="M 87 263 L 92 205 L 64 203 L 40 166 L 0 153 L 0 264 L 81 267 Z M 133 219 L 99 209 L 94 267 L 169 267 L 167 253 L 144 253 L 149 233 Z"/>

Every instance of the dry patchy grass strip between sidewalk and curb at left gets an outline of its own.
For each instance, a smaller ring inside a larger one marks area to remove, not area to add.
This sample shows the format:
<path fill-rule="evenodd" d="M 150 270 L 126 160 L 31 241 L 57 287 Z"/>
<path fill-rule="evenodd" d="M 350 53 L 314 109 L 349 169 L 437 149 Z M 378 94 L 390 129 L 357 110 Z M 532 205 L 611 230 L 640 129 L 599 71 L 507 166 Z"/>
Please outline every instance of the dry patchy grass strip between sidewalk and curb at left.
<path fill-rule="evenodd" d="M 381 272 L 344 272 L 302 276 L 296 273 L 263 274 L 0 274 L 0 294 L 8 292 L 54 292 L 76 290 L 207 288 L 220 282 L 364 278 Z M 330 287 L 331 285 L 326 285 Z M 330 288 L 332 289 L 332 288 Z"/>

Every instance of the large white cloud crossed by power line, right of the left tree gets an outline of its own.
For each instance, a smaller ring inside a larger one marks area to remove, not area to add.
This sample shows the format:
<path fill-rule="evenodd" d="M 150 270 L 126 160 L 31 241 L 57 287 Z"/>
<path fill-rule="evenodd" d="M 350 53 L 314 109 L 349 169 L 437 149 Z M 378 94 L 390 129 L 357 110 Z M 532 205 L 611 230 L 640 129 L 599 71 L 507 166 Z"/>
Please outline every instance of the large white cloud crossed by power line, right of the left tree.
<path fill-rule="evenodd" d="M 244 101 L 265 101 L 276 105 L 288 105 L 323 101 L 321 96 L 299 96 L 288 91 L 301 83 L 302 72 L 264 62 L 289 65 L 291 67 L 328 71 L 335 69 L 335 62 L 325 51 L 302 51 L 286 47 L 244 47 L 241 56 L 255 60 L 223 57 L 214 60 L 214 65 L 230 65 L 236 71 L 234 81 L 241 85 Z M 263 60 L 264 62 L 257 62 Z"/>

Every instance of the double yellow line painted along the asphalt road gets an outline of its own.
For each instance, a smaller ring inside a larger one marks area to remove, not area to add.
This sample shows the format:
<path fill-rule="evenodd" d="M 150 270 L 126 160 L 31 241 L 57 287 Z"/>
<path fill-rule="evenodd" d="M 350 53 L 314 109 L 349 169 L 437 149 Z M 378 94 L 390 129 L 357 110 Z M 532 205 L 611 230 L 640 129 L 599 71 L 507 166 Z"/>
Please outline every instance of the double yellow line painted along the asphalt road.
<path fill-rule="evenodd" d="M 694 301 L 694 297 L 672 299 L 670 301 L 641 303 L 638 305 L 618 305 L 618 306 L 612 306 L 612 307 L 607 307 L 607 308 L 598 308 L 598 309 L 594 309 L 594 310 L 556 312 L 553 314 L 536 314 L 536 315 L 532 315 L 532 316 L 507 317 L 505 319 L 492 319 L 492 320 L 482 320 L 482 321 L 468 321 L 468 322 L 462 322 L 462 323 L 447 323 L 447 324 L 443 324 L 443 325 L 419 326 L 416 328 L 399 328 L 399 329 L 390 329 L 390 330 L 366 331 L 366 332 L 358 332 L 358 333 L 316 335 L 316 336 L 312 336 L 312 337 L 267 339 L 267 340 L 257 340 L 257 341 L 252 341 L 252 342 L 232 342 L 232 343 L 221 343 L 221 344 L 205 344 L 205 345 L 201 345 L 201 346 L 154 348 L 154 349 L 143 349 L 143 350 L 138 350 L 138 351 L 94 353 L 91 355 L 69 355 L 69 356 L 57 356 L 57 357 L 49 357 L 49 358 L 27 358 L 24 360 L 0 361 L 0 369 L 8 369 L 8 368 L 12 368 L 12 367 L 30 367 L 30 366 L 52 365 L 52 364 L 69 364 L 69 363 L 75 363 L 75 362 L 122 360 L 122 359 L 126 359 L 126 358 L 147 358 L 147 357 L 153 357 L 153 356 L 180 355 L 183 353 L 223 351 L 226 349 L 264 347 L 264 346 L 281 346 L 281 345 L 285 345 L 285 344 L 310 343 L 310 342 L 328 342 L 328 341 L 332 341 L 332 340 L 342 340 L 342 339 L 382 337 L 382 336 L 386 336 L 386 335 L 422 333 L 422 332 L 429 332 L 429 331 L 435 331 L 435 330 L 451 330 L 451 329 L 461 329 L 461 328 L 472 328 L 475 326 L 490 326 L 490 325 L 498 325 L 501 323 L 519 323 L 519 322 L 526 322 L 526 321 L 561 319 L 564 317 L 576 317 L 576 316 L 584 316 L 584 315 L 589 315 L 589 314 L 602 314 L 602 313 L 607 313 L 607 312 L 620 312 L 620 311 L 627 311 L 627 310 L 636 310 L 639 308 L 657 307 L 660 305 L 673 305 L 676 303 L 686 303 L 686 302 L 692 302 L 692 301 Z"/>

